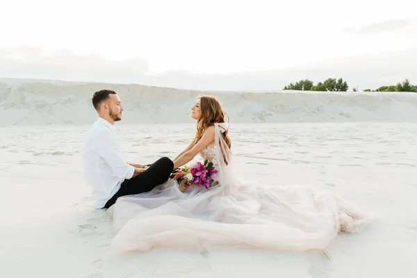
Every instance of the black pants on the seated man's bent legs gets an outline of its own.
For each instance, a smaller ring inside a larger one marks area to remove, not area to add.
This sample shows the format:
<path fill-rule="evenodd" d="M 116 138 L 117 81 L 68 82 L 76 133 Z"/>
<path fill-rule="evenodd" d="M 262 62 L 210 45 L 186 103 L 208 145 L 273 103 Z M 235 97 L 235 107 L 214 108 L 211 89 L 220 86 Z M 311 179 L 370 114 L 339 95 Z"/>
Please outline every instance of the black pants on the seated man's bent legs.
<path fill-rule="evenodd" d="M 131 179 L 125 179 L 120 189 L 107 201 L 104 207 L 111 207 L 115 204 L 118 197 L 151 191 L 155 186 L 167 181 L 170 178 L 172 170 L 174 170 L 174 162 L 170 158 L 159 158 L 145 172 L 141 172 Z"/>

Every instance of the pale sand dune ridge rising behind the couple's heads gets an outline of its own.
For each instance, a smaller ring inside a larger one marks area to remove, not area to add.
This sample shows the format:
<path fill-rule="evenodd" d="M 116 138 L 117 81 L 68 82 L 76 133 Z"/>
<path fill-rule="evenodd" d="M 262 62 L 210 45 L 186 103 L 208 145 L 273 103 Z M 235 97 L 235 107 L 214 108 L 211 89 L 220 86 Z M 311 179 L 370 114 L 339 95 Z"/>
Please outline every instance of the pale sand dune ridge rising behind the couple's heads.
<path fill-rule="evenodd" d="M 191 122 L 198 95 L 219 97 L 233 122 L 416 122 L 412 92 L 204 92 L 137 84 L 0 79 L 0 125 L 88 124 L 90 99 L 116 90 L 124 124 Z"/>

